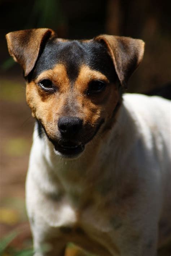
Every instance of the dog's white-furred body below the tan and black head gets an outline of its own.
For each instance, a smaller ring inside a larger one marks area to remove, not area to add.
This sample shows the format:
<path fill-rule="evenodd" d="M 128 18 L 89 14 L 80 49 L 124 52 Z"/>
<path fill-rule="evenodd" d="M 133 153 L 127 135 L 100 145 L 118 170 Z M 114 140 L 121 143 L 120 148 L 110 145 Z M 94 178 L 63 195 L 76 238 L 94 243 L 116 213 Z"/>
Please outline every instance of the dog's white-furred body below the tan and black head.
<path fill-rule="evenodd" d="M 74 160 L 35 129 L 26 201 L 35 247 L 56 238 L 49 255 L 77 243 L 60 227 L 79 226 L 92 244 L 78 245 L 99 244 L 99 255 L 155 256 L 171 230 L 170 101 L 125 94 L 113 128 Z"/>

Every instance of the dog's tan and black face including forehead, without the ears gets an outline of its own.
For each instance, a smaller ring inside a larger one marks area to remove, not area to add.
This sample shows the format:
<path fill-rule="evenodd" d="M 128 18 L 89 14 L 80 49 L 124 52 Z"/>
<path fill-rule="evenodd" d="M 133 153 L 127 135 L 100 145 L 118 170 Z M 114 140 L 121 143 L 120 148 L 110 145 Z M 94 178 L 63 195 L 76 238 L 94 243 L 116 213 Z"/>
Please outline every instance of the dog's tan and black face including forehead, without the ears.
<path fill-rule="evenodd" d="M 60 154 L 84 150 L 119 100 L 113 62 L 98 42 L 53 39 L 26 87 L 27 103 Z"/>

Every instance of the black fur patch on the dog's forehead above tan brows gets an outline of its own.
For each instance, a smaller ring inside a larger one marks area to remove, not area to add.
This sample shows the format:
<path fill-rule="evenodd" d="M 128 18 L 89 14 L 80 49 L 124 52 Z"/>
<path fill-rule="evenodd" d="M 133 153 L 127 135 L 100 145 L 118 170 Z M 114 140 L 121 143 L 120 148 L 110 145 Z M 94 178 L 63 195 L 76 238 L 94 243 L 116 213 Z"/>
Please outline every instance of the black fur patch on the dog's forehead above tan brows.
<path fill-rule="evenodd" d="M 80 68 L 84 65 L 100 71 L 108 79 L 114 76 L 113 61 L 104 45 L 93 40 L 49 40 L 40 54 L 32 72 L 31 79 L 45 70 L 53 70 L 57 64 L 63 64 L 70 81 L 75 81 Z"/>

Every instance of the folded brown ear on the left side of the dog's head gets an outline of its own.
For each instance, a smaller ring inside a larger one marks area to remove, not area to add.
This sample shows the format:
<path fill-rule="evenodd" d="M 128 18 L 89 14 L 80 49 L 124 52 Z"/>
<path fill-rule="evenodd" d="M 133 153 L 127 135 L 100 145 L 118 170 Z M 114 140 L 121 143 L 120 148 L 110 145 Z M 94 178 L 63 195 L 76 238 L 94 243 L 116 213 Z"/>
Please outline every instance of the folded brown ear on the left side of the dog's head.
<path fill-rule="evenodd" d="M 53 36 L 52 29 L 19 30 L 6 35 L 9 54 L 22 66 L 25 76 L 34 68 L 43 42 Z"/>

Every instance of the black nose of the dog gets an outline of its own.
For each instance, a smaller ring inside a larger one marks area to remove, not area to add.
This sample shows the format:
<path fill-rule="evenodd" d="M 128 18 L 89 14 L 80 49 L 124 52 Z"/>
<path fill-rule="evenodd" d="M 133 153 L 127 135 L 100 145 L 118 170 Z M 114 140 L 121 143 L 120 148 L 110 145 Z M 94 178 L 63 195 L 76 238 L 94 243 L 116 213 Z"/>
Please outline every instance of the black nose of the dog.
<path fill-rule="evenodd" d="M 65 137 L 70 137 L 79 132 L 82 128 L 83 120 L 78 117 L 60 117 L 58 120 L 58 128 Z"/>

